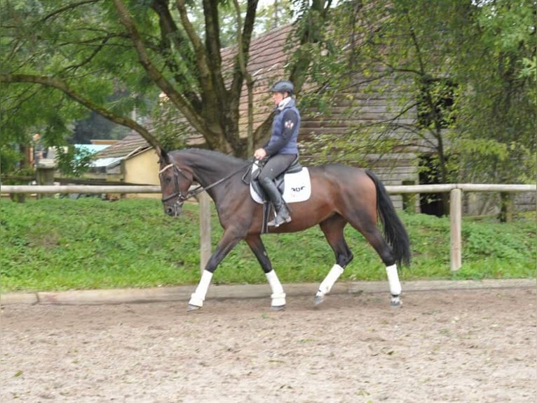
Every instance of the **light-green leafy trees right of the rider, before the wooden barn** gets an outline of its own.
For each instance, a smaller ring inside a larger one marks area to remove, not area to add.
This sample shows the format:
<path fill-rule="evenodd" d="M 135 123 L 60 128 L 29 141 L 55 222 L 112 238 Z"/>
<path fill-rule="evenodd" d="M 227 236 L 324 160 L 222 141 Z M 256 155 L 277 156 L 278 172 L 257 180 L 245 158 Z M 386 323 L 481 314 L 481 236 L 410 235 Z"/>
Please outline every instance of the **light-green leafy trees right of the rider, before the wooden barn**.
<path fill-rule="evenodd" d="M 318 103 L 350 105 L 352 121 L 355 94 L 376 93 L 391 117 L 330 152 L 421 152 L 439 183 L 535 178 L 535 1 L 360 1 L 333 17 L 335 51 L 311 67 Z"/>

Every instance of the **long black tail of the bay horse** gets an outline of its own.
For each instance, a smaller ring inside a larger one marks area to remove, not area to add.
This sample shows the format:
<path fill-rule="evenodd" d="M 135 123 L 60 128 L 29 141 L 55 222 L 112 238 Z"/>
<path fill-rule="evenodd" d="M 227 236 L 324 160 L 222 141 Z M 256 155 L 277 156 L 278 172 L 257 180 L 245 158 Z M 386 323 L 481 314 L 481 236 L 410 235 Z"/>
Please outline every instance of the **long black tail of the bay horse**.
<path fill-rule="evenodd" d="M 386 191 L 383 183 L 371 171 L 365 171 L 376 187 L 376 209 L 384 228 L 384 237 L 390 244 L 393 257 L 397 265 L 410 265 L 410 240 L 405 230 L 405 225 L 401 222 L 395 212 L 390 195 Z"/>

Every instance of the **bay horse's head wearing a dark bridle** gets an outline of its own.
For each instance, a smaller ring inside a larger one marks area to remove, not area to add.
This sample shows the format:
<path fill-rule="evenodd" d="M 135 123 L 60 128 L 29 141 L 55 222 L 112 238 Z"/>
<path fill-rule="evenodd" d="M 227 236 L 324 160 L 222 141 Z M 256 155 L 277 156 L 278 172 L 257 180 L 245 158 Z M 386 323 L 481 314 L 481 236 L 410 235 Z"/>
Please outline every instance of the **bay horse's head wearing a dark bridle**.
<path fill-rule="evenodd" d="M 175 159 L 164 151 L 160 152 L 158 178 L 161 180 L 162 204 L 168 216 L 182 213 L 183 203 L 188 199 L 193 176 L 186 167 L 180 167 Z"/>

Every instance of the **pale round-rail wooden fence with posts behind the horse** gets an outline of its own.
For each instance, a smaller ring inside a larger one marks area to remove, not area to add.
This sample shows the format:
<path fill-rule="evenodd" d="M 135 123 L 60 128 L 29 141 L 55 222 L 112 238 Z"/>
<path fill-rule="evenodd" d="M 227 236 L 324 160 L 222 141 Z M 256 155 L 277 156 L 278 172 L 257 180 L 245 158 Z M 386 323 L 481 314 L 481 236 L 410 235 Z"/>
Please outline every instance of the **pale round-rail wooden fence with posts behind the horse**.
<path fill-rule="evenodd" d="M 402 185 L 386 186 L 390 194 L 418 194 L 418 193 L 442 193 L 449 192 L 449 218 L 451 223 L 451 270 L 458 270 L 462 265 L 461 248 L 461 223 L 462 223 L 462 192 L 537 192 L 537 185 L 487 185 L 475 183 L 453 183 L 446 185 Z M 160 186 L 148 185 L 3 185 L 0 187 L 1 194 L 50 194 L 50 193 L 160 193 Z M 198 195 L 200 203 L 200 270 L 210 258 L 212 249 L 210 236 L 210 199 L 203 192 Z"/>

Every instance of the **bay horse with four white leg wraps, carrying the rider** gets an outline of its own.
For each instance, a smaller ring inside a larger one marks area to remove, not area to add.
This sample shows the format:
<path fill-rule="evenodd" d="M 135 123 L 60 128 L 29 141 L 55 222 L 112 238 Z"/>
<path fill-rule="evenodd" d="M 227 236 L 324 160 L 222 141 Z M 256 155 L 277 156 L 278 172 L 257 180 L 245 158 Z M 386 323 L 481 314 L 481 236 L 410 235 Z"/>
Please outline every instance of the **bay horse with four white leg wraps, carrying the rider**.
<path fill-rule="evenodd" d="M 201 149 L 157 152 L 160 155 L 158 175 L 165 213 L 179 216 L 184 201 L 205 190 L 215 202 L 224 228 L 222 238 L 191 295 L 188 310 L 198 310 L 203 306 L 213 273 L 242 239 L 252 249 L 271 286 L 271 308 L 285 308 L 283 286 L 261 241 L 263 206 L 254 202 L 250 187 L 243 180 L 253 161 Z M 311 197 L 305 202 L 290 204 L 292 221 L 279 227 L 269 227 L 269 232 L 298 232 L 317 224 L 324 232 L 336 263 L 315 293 L 315 305 L 322 303 L 344 268 L 353 260 L 353 253 L 344 237 L 344 227 L 348 223 L 367 239 L 386 265 L 390 305 L 399 307 L 401 285 L 397 265 L 409 265 L 410 243 L 384 185 L 370 171 L 341 164 L 311 166 L 308 171 Z M 193 182 L 200 186 L 189 191 Z M 384 237 L 377 226 L 377 213 Z"/>

